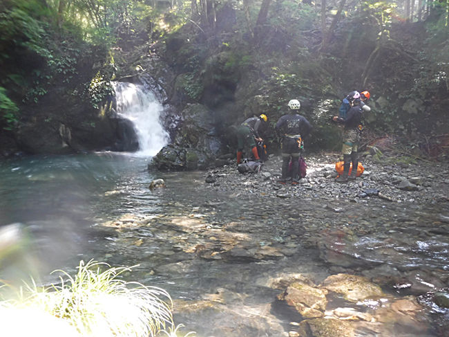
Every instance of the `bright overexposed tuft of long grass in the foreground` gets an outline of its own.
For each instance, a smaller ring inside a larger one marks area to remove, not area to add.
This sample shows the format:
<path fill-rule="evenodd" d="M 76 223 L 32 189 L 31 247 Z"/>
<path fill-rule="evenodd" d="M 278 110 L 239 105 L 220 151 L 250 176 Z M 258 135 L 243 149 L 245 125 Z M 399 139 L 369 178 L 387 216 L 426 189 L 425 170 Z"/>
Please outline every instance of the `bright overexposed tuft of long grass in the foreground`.
<path fill-rule="evenodd" d="M 14 312 L 11 309 L 39 312 L 61 324 L 64 322 L 79 336 L 146 337 L 160 332 L 178 336 L 182 325 L 174 325 L 169 293 L 117 278 L 132 267 L 111 267 L 91 260 L 87 264 L 80 262 L 77 268 L 75 277 L 64 271 L 53 272 L 61 273 L 58 285 L 41 288 L 34 282 L 27 284 L 26 289 L 21 289 L 20 300 L 0 302 L 0 314 L 4 309 L 10 313 Z M 23 317 L 22 322 L 27 322 L 27 318 Z"/>

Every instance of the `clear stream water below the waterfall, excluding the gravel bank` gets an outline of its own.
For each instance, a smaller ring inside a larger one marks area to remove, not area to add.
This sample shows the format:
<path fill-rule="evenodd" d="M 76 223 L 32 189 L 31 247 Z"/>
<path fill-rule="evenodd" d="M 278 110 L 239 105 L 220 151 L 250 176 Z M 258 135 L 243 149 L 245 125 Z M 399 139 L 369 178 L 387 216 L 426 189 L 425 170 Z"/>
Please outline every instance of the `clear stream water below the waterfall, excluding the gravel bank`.
<path fill-rule="evenodd" d="M 128 277 L 169 291 L 181 322 L 199 336 L 296 329 L 290 322 L 298 313 L 276 300 L 287 286 L 276 280 L 285 275 L 307 275 L 316 287 L 331 274 L 365 275 L 400 308 L 411 304 L 398 298 L 448 286 L 447 209 L 224 194 L 204 183 L 204 172 L 150 173 L 146 165 L 145 158 L 118 154 L 1 163 L 0 225 L 20 223 L 28 233 L 19 243 L 23 254 L 3 259 L 3 278 L 70 272 L 79 259 L 139 264 Z M 149 190 L 155 178 L 166 188 Z M 348 304 L 341 296 L 328 305 L 332 315 L 343 315 L 343 304 L 352 315 L 382 309 L 391 316 L 382 299 Z M 448 313 L 439 314 L 447 325 Z M 400 331 L 389 331 L 440 336 L 432 322 L 404 320 Z M 388 336 L 359 328 L 356 336 Z"/>

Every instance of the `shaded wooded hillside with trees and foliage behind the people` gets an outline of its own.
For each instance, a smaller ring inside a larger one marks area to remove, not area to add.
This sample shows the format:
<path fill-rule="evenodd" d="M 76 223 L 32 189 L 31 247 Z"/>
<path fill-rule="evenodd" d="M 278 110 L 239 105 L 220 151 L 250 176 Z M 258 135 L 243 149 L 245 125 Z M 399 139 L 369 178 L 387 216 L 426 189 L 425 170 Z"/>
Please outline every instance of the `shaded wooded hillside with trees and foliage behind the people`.
<path fill-rule="evenodd" d="M 368 90 L 373 134 L 447 149 L 448 1 L 0 3 L 3 154 L 35 151 L 26 135 L 41 125 L 78 128 L 80 139 L 114 129 L 102 122 L 109 82 L 142 73 L 165 104 L 210 109 L 222 134 L 262 112 L 272 126 L 296 98 L 312 149 L 332 148 L 329 116 L 346 93 Z M 114 132 L 84 148 L 107 147 Z"/>

